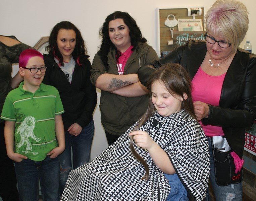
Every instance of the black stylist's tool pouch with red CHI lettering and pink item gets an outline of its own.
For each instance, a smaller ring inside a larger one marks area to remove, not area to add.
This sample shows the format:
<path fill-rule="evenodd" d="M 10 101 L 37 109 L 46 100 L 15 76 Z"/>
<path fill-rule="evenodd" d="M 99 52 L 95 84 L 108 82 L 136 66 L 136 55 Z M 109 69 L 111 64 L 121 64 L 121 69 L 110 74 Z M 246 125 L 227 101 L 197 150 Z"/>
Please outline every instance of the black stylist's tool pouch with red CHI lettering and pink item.
<path fill-rule="evenodd" d="M 237 184 L 243 180 L 244 159 L 228 145 L 225 136 L 212 137 L 215 180 L 219 186 Z"/>

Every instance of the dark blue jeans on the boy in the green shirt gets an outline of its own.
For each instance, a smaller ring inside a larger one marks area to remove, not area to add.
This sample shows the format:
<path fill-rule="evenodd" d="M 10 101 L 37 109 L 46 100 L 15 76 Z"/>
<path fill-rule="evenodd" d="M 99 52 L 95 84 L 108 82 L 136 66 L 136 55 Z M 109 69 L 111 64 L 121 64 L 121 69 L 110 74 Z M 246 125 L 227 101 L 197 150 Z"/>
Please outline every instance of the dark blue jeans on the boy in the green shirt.
<path fill-rule="evenodd" d="M 42 161 L 23 159 L 15 162 L 20 201 L 38 201 L 38 178 L 44 201 L 59 201 L 59 157 Z"/>

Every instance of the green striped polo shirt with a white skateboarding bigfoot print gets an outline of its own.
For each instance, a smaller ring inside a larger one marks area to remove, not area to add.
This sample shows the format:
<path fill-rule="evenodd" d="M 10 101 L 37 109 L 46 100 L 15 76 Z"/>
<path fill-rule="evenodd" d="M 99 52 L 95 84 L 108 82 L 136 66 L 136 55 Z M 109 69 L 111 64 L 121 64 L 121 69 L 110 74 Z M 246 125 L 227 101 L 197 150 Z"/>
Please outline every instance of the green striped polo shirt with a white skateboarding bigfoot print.
<path fill-rule="evenodd" d="M 1 119 L 15 121 L 14 152 L 31 160 L 44 160 L 58 146 L 55 116 L 64 113 L 58 90 L 41 83 L 35 93 L 19 87 L 5 99 Z"/>

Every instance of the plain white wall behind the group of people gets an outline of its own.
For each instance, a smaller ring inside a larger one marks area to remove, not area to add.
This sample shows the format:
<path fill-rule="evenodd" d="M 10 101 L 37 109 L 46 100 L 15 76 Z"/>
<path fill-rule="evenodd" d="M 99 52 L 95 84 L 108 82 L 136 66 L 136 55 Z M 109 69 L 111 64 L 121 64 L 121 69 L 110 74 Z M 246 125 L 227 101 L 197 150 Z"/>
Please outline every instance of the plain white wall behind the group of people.
<path fill-rule="evenodd" d="M 187 8 L 204 7 L 205 12 L 215 0 L 0 0 L 0 34 L 14 35 L 30 46 L 34 46 L 42 36 L 49 36 L 52 27 L 63 20 L 74 23 L 82 32 L 87 44 L 92 62 L 101 40 L 99 28 L 110 13 L 120 10 L 128 12 L 136 21 L 142 35 L 157 51 L 157 12 L 156 8 Z M 253 52 L 256 52 L 255 0 L 241 0 L 249 11 L 250 24 L 246 40 L 250 40 Z M 92 159 L 107 148 L 105 134 L 100 123 L 99 110 L 100 93 L 98 90 L 98 104 L 94 113 L 95 137 L 92 147 Z"/>

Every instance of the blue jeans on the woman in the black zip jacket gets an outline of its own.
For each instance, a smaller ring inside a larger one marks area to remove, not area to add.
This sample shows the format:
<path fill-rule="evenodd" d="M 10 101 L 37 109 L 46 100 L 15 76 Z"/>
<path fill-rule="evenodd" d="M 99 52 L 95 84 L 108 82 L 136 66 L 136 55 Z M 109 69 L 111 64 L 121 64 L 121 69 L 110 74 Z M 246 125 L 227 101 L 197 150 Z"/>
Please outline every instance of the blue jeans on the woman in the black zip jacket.
<path fill-rule="evenodd" d="M 66 148 L 60 158 L 60 195 L 64 190 L 67 182 L 68 174 L 71 170 L 88 163 L 91 156 L 91 146 L 94 135 L 94 121 L 92 120 L 86 127 L 83 128 L 78 136 L 70 135 L 65 132 Z M 72 147 L 72 160 L 71 160 Z"/>

